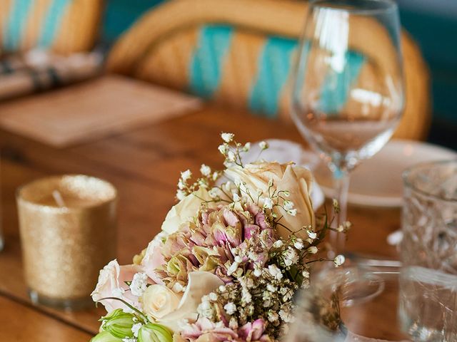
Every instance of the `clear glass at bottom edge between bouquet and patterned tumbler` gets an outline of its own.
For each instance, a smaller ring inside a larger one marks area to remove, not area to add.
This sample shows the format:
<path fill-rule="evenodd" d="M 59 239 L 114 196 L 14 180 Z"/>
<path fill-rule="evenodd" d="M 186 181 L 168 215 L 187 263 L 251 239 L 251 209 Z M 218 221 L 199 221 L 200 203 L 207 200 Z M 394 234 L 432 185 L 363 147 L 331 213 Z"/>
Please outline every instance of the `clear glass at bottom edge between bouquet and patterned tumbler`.
<path fill-rule="evenodd" d="M 398 268 L 325 269 L 296 296 L 286 342 L 405 341 L 398 324 Z"/>

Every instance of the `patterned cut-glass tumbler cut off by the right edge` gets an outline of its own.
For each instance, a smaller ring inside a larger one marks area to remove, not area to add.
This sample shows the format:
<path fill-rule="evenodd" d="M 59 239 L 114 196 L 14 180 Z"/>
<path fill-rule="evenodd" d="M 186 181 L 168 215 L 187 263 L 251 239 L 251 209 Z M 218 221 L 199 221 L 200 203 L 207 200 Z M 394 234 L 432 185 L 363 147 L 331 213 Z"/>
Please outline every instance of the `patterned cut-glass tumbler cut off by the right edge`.
<path fill-rule="evenodd" d="M 399 316 L 413 341 L 457 341 L 457 160 L 403 173 Z"/>

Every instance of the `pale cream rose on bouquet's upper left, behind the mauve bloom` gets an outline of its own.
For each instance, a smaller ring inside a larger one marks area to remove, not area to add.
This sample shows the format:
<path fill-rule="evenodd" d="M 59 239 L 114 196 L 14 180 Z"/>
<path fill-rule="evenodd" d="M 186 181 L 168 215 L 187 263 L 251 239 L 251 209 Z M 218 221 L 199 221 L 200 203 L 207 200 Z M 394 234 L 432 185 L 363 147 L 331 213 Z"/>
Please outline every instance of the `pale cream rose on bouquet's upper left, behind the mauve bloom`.
<path fill-rule="evenodd" d="M 162 230 L 167 234 L 176 232 L 183 222 L 189 221 L 189 219 L 196 216 L 201 203 L 204 201 L 211 201 L 211 196 L 203 187 L 184 197 L 184 199 L 172 207 L 169 213 L 166 214 L 165 221 L 162 224 Z"/>

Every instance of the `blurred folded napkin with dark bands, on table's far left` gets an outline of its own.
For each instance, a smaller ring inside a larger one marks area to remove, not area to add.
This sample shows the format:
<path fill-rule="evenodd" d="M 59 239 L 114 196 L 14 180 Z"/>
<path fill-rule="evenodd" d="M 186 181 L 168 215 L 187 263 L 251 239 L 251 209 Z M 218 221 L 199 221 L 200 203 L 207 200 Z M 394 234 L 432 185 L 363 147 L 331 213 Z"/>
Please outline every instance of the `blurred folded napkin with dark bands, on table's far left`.
<path fill-rule="evenodd" d="M 101 71 L 98 52 L 58 56 L 46 51 L 0 59 L 0 100 L 16 98 L 94 77 Z"/>

